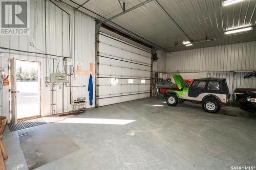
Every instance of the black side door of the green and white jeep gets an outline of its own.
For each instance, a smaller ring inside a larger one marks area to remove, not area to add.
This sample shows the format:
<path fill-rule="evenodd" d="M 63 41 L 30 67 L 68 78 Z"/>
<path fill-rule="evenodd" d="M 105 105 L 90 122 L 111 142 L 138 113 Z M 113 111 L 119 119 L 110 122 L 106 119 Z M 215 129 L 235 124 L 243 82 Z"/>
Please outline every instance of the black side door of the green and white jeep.
<path fill-rule="evenodd" d="M 207 81 L 195 80 L 188 88 L 188 96 L 191 98 L 197 98 L 199 94 L 205 93 Z"/>

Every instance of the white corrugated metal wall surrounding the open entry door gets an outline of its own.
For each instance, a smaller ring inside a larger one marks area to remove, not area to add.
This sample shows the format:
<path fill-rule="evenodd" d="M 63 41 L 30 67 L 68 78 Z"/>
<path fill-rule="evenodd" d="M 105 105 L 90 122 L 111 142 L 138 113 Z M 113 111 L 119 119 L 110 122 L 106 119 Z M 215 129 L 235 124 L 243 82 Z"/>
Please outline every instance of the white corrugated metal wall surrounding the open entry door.
<path fill-rule="evenodd" d="M 30 1 L 30 35 L 28 36 L 1 36 L 0 46 L 24 50 L 30 52 L 45 52 L 45 17 L 44 17 L 44 0 Z M 95 65 L 95 21 L 94 19 L 80 13 L 75 12 L 75 32 L 74 32 L 74 9 L 62 3 L 58 6 L 65 9 L 71 15 L 71 40 L 72 40 L 72 61 L 76 69 L 77 62 L 82 62 L 82 69 L 89 70 L 90 63 Z M 69 56 L 69 23 L 68 15 L 62 12 L 58 7 L 47 1 L 47 53 L 52 55 Z M 74 45 L 75 35 L 75 45 Z M 34 43 L 33 47 L 30 42 Z M 74 48 L 75 46 L 75 48 Z M 75 49 L 75 50 L 74 50 Z M 50 77 L 49 72 L 55 72 L 57 63 L 59 68 L 57 71 L 64 72 L 62 58 L 49 56 L 49 61 L 45 61 L 45 55 L 27 54 L 6 50 L 1 53 L 0 64 L 5 68 L 5 74 L 8 74 L 8 58 L 16 58 L 29 61 L 38 61 L 41 63 L 41 115 L 60 113 L 69 111 L 69 88 L 64 86 L 63 92 L 59 85 L 55 85 L 52 93 L 51 86 L 45 86 L 45 77 Z M 47 64 L 48 75 L 46 75 L 45 64 Z M 93 68 L 94 70 L 94 68 Z M 75 77 L 75 78 L 74 78 Z M 93 76 L 94 77 L 94 76 Z M 89 76 L 74 75 L 72 76 L 72 86 L 88 86 Z M 95 79 L 93 79 L 95 85 Z M 87 87 L 72 87 L 73 98 L 86 96 L 89 99 Z M 62 98 L 64 105 L 62 105 Z M 51 108 L 51 103 L 55 104 Z M 4 86 L 1 90 L 1 115 L 9 117 L 9 100 L 8 87 Z M 89 106 L 87 103 L 87 107 Z M 63 110 L 62 110 L 63 109 Z"/>

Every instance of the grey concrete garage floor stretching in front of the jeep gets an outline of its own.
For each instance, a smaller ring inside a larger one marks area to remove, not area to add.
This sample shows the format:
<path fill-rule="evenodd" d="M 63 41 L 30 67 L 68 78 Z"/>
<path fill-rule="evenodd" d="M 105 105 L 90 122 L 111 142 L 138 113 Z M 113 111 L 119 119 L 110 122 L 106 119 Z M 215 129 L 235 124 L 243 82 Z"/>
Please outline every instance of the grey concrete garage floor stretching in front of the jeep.
<path fill-rule="evenodd" d="M 209 114 L 197 104 L 170 107 L 163 100 L 147 98 L 95 108 L 73 119 L 82 118 L 136 121 L 125 125 L 71 121 L 33 127 L 60 129 L 80 148 L 37 169 L 231 169 L 256 165 L 256 119 L 238 107 L 223 107 L 218 114 Z M 3 141 L 9 154 L 6 168 L 27 169 L 17 132 L 6 127 Z"/>

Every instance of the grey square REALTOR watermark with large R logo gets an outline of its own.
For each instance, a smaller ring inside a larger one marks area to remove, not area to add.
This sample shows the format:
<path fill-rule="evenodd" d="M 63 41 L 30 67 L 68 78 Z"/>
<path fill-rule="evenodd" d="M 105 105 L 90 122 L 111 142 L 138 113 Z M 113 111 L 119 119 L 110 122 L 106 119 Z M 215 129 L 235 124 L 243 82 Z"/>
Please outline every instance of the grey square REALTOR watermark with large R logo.
<path fill-rule="evenodd" d="M 1 35 L 29 35 L 29 0 L 0 0 Z"/>

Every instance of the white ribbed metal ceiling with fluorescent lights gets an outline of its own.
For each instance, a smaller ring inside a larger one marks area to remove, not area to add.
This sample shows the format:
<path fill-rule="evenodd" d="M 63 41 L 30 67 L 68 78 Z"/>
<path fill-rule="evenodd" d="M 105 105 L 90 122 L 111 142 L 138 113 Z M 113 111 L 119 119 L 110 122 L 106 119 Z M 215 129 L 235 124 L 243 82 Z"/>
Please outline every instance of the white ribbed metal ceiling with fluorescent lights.
<path fill-rule="evenodd" d="M 63 0 L 74 7 L 86 0 Z M 120 0 L 129 9 L 145 0 Z M 216 41 L 168 48 L 180 51 L 205 46 L 223 45 L 256 40 L 256 31 L 224 36 L 224 31 L 256 24 L 256 1 L 221 7 L 222 0 L 153 0 L 133 11 L 127 12 L 106 24 L 157 47 L 175 46 L 175 41 L 201 41 L 217 38 Z M 162 6 L 162 8 L 161 8 Z M 118 0 L 91 0 L 79 8 L 99 20 L 110 18 L 122 9 Z M 173 20 L 172 20 L 173 18 Z M 178 26 L 182 29 L 180 29 Z M 132 33 L 129 33 L 132 32 Z"/>

